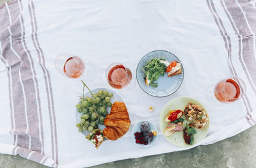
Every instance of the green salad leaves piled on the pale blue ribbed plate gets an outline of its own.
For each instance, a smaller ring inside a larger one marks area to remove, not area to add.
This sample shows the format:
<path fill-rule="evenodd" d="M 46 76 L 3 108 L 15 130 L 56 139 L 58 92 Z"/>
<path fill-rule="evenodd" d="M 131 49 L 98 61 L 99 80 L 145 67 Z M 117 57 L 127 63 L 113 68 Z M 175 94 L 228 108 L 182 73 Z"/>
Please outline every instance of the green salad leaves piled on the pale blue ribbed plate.
<path fill-rule="evenodd" d="M 143 67 L 144 80 L 147 81 L 148 85 L 154 88 L 157 87 L 156 80 L 159 78 L 159 76 L 164 75 L 164 71 L 166 69 L 166 66 L 160 62 L 161 60 L 166 61 L 163 57 L 151 59 L 147 62 L 147 65 Z"/>

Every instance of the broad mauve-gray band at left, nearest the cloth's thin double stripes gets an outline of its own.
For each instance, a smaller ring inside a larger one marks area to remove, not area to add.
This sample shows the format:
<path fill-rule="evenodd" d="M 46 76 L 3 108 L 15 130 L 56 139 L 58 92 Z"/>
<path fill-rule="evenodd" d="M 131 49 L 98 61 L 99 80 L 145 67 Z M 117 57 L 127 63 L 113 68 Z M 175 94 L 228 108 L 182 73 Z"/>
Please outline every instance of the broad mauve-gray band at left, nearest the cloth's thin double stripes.
<path fill-rule="evenodd" d="M 21 24 L 19 17 L 13 17 L 13 11 L 19 13 L 19 4 L 13 4 L 7 6 L 10 10 L 10 15 L 12 19 L 12 26 L 10 27 L 12 32 L 12 45 L 13 49 L 19 55 L 20 59 L 20 75 L 22 84 L 24 86 L 25 99 L 26 99 L 26 119 L 28 122 L 28 127 L 26 134 L 29 134 L 29 148 L 38 152 L 41 152 L 42 146 L 39 139 L 39 126 L 38 126 L 38 107 L 36 102 L 36 93 L 35 93 L 35 82 L 33 80 L 32 70 L 28 54 L 24 52 L 21 41 Z"/>

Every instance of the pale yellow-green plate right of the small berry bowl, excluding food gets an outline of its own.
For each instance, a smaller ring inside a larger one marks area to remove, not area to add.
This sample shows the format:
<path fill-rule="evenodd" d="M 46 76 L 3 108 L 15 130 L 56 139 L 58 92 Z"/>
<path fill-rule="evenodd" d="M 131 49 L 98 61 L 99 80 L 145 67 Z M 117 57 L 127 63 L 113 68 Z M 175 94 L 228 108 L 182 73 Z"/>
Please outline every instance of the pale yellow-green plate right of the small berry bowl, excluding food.
<path fill-rule="evenodd" d="M 160 114 L 159 123 L 160 123 L 161 132 L 163 134 L 164 134 L 164 130 L 165 130 L 166 126 L 168 125 L 168 123 L 164 121 L 164 118 L 168 114 L 168 112 L 170 110 L 184 111 L 185 105 L 189 102 L 200 105 L 204 109 L 204 111 L 206 112 L 206 114 L 209 118 L 209 114 L 208 114 L 207 110 L 205 109 L 204 105 L 202 105 L 202 103 L 198 102 L 198 100 L 195 100 L 194 98 L 190 98 L 190 97 L 184 97 L 184 96 L 173 98 L 172 100 L 170 100 L 170 102 L 168 102 L 168 103 L 166 103 L 166 105 L 164 105 L 164 107 L 161 111 L 161 114 Z M 189 123 L 189 122 L 186 121 L 186 118 L 184 116 L 182 116 L 182 118 L 185 119 L 183 122 L 183 128 L 184 128 L 186 126 L 186 123 Z M 196 129 L 197 133 L 194 136 L 195 139 L 194 139 L 193 145 L 202 141 L 202 139 L 204 139 L 206 137 L 208 130 L 209 130 L 209 124 L 203 130 Z M 173 135 L 170 135 L 168 137 L 164 136 L 164 137 L 167 141 L 171 142 L 175 146 L 185 147 L 185 148 L 191 147 L 191 145 L 188 145 L 184 142 L 183 132 L 175 132 Z"/>

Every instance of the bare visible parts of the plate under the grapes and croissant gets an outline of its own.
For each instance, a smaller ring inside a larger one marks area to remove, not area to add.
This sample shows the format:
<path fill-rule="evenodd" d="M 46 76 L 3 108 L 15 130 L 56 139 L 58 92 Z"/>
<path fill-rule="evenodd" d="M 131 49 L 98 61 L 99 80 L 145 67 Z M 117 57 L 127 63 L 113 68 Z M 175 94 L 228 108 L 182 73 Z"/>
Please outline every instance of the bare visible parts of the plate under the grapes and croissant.
<path fill-rule="evenodd" d="M 86 89 L 86 88 L 84 88 Z M 124 102 L 124 100 L 122 99 L 122 97 L 120 95 L 118 95 L 118 93 L 116 93 L 115 91 L 108 89 L 108 88 L 96 88 L 96 89 L 91 89 L 92 93 L 97 93 L 99 90 L 102 91 L 108 91 L 109 93 L 113 93 L 113 97 L 111 97 L 110 102 L 114 103 L 114 102 Z M 84 97 L 89 96 L 92 97 L 90 92 L 88 91 L 87 93 L 84 94 Z M 79 101 L 80 102 L 80 101 Z M 108 107 L 108 113 L 110 112 L 111 107 Z M 81 122 L 81 115 L 83 114 L 83 112 L 78 112 L 76 109 L 76 123 L 80 123 Z M 103 130 L 105 128 L 104 125 L 98 125 L 100 130 Z M 88 135 L 89 132 L 88 131 L 84 131 L 82 132 L 84 135 Z"/>

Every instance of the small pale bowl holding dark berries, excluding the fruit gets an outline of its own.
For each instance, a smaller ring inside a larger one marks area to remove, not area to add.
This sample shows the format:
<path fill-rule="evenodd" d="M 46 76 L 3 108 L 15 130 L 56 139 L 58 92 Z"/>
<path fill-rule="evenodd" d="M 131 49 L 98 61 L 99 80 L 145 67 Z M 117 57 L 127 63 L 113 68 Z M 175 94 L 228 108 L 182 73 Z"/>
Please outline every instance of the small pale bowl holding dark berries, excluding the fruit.
<path fill-rule="evenodd" d="M 153 141 L 152 142 L 149 142 L 147 145 L 145 144 L 136 144 L 136 139 L 135 139 L 135 133 L 136 132 L 141 132 L 140 130 L 140 126 L 141 126 L 141 123 L 143 122 L 147 122 L 149 124 L 149 129 L 150 130 L 155 130 L 157 132 L 157 135 L 155 136 L 154 135 L 154 138 L 153 138 Z M 131 137 L 132 137 L 132 141 L 134 142 L 134 144 L 140 148 L 148 148 L 150 146 L 153 146 L 156 141 L 157 141 L 157 137 L 158 137 L 158 131 L 157 131 L 157 128 L 156 128 L 156 125 L 154 125 L 153 123 L 151 123 L 150 121 L 147 121 L 147 120 L 143 120 L 143 121 L 139 121 L 138 123 L 136 123 L 133 127 L 132 127 L 132 132 L 131 132 Z"/>

